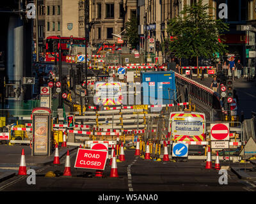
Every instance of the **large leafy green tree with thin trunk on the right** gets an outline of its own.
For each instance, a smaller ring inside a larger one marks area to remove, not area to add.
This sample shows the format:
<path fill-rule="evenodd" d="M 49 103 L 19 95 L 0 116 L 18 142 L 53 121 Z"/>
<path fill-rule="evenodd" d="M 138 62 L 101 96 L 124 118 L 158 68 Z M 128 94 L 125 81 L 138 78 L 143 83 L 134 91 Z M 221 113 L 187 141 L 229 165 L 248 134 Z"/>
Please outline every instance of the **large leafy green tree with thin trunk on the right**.
<path fill-rule="evenodd" d="M 199 0 L 191 6 L 184 6 L 180 15 L 168 22 L 167 32 L 173 36 L 169 41 L 169 51 L 175 52 L 179 58 L 196 57 L 197 67 L 198 57 L 212 58 L 217 52 L 221 55 L 227 52 L 227 45 L 221 43 L 221 33 L 228 31 L 228 25 L 221 19 L 214 19 L 208 13 L 209 8 Z"/>

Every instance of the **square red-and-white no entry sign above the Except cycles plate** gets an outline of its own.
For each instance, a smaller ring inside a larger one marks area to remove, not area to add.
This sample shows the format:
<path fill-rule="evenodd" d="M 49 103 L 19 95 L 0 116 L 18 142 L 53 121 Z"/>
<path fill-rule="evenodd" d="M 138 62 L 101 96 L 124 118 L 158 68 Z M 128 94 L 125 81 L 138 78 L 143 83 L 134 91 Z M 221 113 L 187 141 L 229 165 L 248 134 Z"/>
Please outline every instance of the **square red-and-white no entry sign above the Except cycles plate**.
<path fill-rule="evenodd" d="M 211 124 L 211 140 L 229 140 L 229 124 Z"/>

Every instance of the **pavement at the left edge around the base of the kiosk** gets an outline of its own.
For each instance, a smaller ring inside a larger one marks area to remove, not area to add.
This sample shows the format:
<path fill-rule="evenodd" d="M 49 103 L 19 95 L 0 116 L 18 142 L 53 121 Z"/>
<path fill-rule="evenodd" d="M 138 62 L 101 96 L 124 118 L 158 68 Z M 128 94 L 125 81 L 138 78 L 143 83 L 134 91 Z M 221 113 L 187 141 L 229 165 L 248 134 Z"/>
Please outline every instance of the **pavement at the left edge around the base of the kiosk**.
<path fill-rule="evenodd" d="M 69 150 L 72 151 L 76 148 L 77 147 L 70 147 Z M 25 152 L 27 169 L 45 166 L 51 164 L 54 160 L 54 152 L 52 152 L 51 156 L 31 156 L 29 145 L 0 145 L 0 154 L 2 155 L 2 157 L 0 157 L 0 182 L 10 179 L 18 173 L 22 149 L 24 149 Z M 60 158 L 66 154 L 67 148 L 59 147 Z"/>

